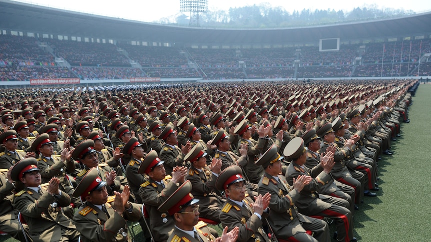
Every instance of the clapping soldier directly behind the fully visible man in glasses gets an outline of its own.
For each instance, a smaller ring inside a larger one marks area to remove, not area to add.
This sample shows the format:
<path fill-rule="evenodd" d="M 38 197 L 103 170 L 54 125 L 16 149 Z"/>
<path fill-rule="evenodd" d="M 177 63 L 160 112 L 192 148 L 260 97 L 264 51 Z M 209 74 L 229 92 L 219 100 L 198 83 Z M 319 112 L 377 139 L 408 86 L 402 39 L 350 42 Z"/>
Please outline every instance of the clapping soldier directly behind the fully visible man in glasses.
<path fill-rule="evenodd" d="M 202 207 L 199 209 L 201 217 L 220 222 L 219 215 L 223 199 L 216 193 L 215 180 L 221 172 L 221 160 L 213 158 L 211 169 L 206 166 L 207 154 L 203 147 L 197 144 L 184 157 L 184 161 L 190 162 L 190 168 L 186 179 L 191 182 L 191 194 L 200 200 Z"/>

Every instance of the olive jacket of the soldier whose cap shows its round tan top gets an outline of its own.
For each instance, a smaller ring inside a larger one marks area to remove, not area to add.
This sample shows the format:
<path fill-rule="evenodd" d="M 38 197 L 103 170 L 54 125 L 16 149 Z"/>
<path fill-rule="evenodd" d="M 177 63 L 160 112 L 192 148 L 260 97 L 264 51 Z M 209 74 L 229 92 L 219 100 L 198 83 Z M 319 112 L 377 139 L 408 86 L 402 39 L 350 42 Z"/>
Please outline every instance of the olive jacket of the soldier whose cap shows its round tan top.
<path fill-rule="evenodd" d="M 298 175 L 310 176 L 310 171 L 307 167 L 300 167 L 294 162 L 291 162 L 287 167 L 286 180 L 287 183 L 293 185 L 293 178 Z M 296 200 L 295 205 L 299 211 L 306 210 L 309 214 L 317 214 L 321 211 L 330 208 L 330 204 L 323 202 L 319 199 L 317 189 L 322 185 L 329 183 L 331 180 L 330 175 L 320 172 L 308 185 L 305 185 L 299 194 L 299 199 Z"/>

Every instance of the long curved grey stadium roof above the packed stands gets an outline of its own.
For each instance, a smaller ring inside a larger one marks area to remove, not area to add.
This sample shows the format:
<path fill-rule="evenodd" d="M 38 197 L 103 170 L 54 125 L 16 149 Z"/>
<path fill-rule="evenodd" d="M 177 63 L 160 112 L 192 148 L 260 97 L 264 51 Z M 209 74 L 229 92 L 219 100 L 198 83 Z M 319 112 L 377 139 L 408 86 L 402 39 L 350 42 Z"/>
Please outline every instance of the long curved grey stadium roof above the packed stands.
<path fill-rule="evenodd" d="M 169 26 L 0 0 L 0 28 L 68 36 L 190 44 L 285 44 L 431 34 L 431 12 L 333 25 L 278 29 Z M 427 37 L 427 36 L 426 36 Z"/>

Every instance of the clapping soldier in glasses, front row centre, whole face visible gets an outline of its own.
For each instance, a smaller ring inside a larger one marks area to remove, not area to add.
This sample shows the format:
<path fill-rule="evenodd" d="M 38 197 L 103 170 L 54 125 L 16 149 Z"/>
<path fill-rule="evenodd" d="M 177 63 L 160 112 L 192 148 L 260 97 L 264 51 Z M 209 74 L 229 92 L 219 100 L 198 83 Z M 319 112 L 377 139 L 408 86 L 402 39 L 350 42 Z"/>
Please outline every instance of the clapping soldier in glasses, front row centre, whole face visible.
<path fill-rule="evenodd" d="M 224 169 L 217 178 L 215 187 L 224 191 L 227 198 L 220 214 L 221 224 L 227 226 L 228 230 L 239 228 L 238 242 L 270 242 L 262 228 L 262 219 L 268 216 L 271 195 L 259 195 L 250 204 L 249 200 L 245 200 L 248 196 L 245 182 L 241 168 L 235 165 Z"/>

